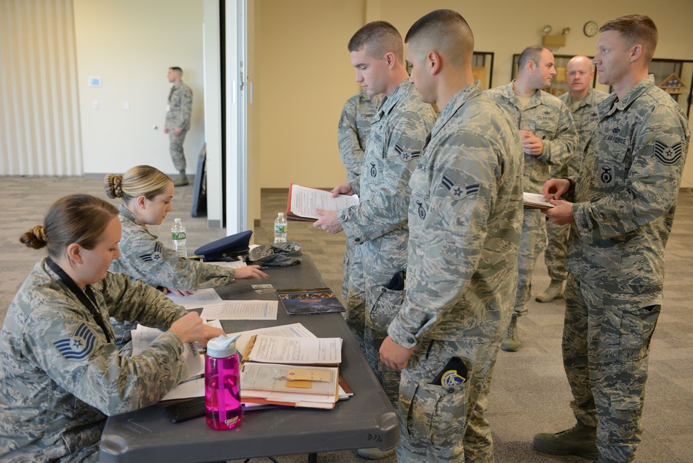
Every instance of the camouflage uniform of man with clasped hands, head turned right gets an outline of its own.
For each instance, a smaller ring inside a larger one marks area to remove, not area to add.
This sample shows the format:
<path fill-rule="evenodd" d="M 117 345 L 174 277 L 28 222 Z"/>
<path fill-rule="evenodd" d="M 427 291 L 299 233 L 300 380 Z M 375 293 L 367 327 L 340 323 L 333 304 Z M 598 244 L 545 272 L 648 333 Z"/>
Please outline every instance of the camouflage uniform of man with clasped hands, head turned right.
<path fill-rule="evenodd" d="M 515 121 L 519 130 L 529 130 L 542 139 L 541 156 L 525 155 L 523 191 L 541 193 L 541 187 L 549 180 L 549 166 L 560 166 L 575 150 L 577 132 L 570 111 L 555 96 L 537 90 L 523 108 L 510 82 L 503 87 L 486 90 L 486 94 L 503 107 Z M 536 259 L 546 247 L 546 219 L 538 209 L 527 209 L 523 219 L 522 240 L 518 255 L 518 290 L 515 310 L 525 313 L 525 303 L 532 292 L 532 272 Z"/>

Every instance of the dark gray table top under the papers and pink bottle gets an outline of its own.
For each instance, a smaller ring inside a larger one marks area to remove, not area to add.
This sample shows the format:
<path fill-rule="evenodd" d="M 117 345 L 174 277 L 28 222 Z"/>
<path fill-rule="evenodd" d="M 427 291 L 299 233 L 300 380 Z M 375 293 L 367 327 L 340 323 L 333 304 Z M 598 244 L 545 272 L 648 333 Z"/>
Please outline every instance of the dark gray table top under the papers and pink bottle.
<path fill-rule="evenodd" d="M 299 265 L 265 270 L 275 289 L 325 286 L 309 256 Z M 270 292 L 258 295 L 256 280 L 237 280 L 217 291 L 222 299 L 277 300 Z M 268 455 L 292 455 L 349 448 L 394 447 L 399 441 L 398 420 L 376 376 L 341 314 L 286 314 L 277 320 L 224 321 L 227 333 L 300 322 L 319 338 L 341 337 L 340 374 L 354 392 L 333 410 L 287 408 L 243 415 L 240 426 L 213 430 L 204 417 L 173 424 L 166 404 L 109 417 L 100 446 L 101 462 L 206 462 Z"/>

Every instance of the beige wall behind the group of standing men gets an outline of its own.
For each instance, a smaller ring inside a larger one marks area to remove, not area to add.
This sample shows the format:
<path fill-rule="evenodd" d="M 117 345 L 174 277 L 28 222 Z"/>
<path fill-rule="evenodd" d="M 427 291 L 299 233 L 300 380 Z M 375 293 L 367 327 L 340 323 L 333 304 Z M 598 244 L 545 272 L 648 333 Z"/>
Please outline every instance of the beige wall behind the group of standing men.
<path fill-rule="evenodd" d="M 405 35 L 411 24 L 436 8 L 459 11 L 475 34 L 477 51 L 493 51 L 493 85 L 510 80 L 514 53 L 541 43 L 542 28 L 570 27 L 561 55 L 593 54 L 597 37 L 582 33 L 586 21 L 604 23 L 631 12 L 658 25 L 656 58 L 693 60 L 693 2 L 672 0 L 584 0 L 581 10 L 563 3 L 526 0 L 256 0 L 256 176 L 257 189 L 286 188 L 290 182 L 331 187 L 344 181 L 337 152 L 337 121 L 344 101 L 358 90 L 347 42 L 367 21 L 384 19 Z M 693 186 L 693 161 L 683 186 Z"/>

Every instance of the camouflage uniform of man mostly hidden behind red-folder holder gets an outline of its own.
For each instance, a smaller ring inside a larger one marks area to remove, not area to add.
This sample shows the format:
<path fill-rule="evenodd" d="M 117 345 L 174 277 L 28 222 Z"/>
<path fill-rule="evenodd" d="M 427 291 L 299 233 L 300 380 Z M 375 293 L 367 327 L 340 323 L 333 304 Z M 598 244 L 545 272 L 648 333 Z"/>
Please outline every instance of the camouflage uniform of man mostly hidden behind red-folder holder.
<path fill-rule="evenodd" d="M 347 183 L 358 194 L 359 176 L 363 165 L 363 150 L 366 147 L 371 121 L 380 104 L 380 97 L 369 97 L 365 90 L 352 96 L 344 103 L 337 139 L 340 147 L 342 164 L 347 168 Z M 364 349 L 363 327 L 365 326 L 365 290 L 363 288 L 363 268 L 354 260 L 356 243 L 347 238 L 344 252 L 344 281 L 342 281 L 342 299 L 347 301 L 347 324 L 356 340 Z"/>

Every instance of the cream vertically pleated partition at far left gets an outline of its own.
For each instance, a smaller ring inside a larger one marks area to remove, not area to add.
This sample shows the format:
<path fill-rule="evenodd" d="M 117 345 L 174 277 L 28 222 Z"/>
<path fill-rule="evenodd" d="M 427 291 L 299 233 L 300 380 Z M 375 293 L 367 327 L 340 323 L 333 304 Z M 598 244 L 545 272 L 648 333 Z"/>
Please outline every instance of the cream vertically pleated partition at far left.
<path fill-rule="evenodd" d="M 0 175 L 82 175 L 72 0 L 0 0 Z"/>

